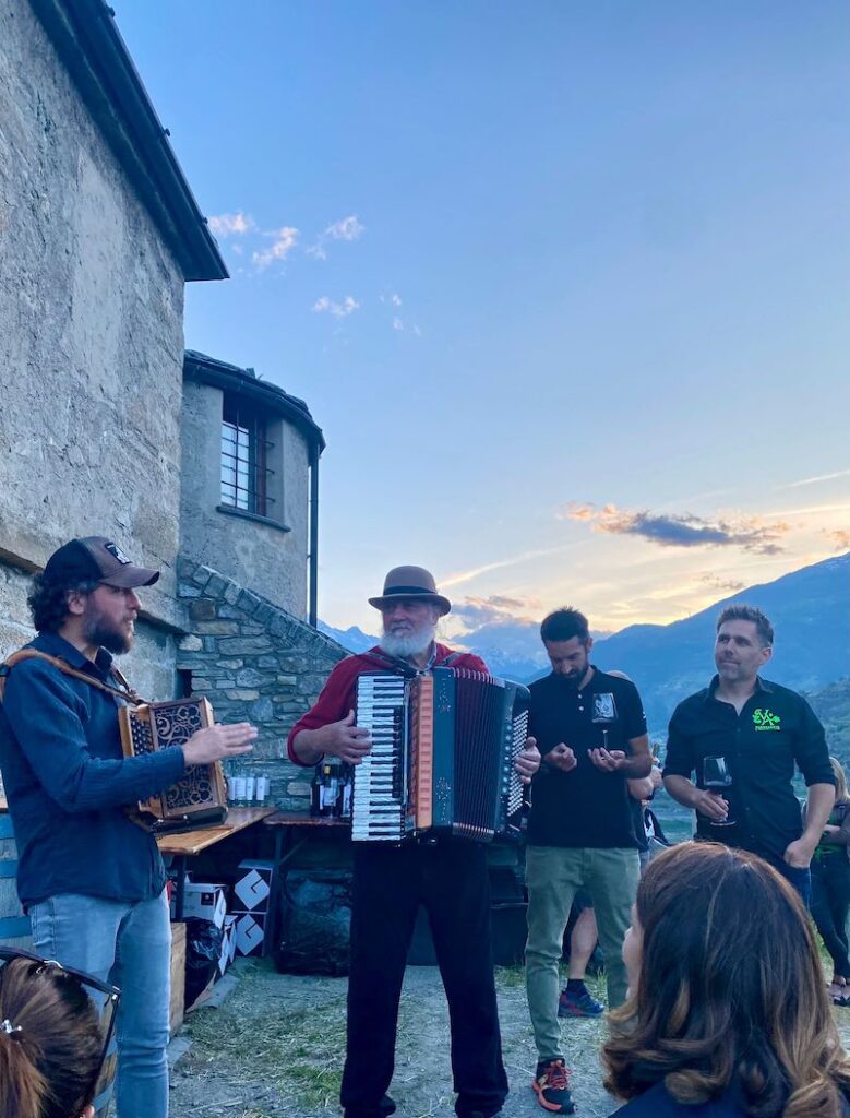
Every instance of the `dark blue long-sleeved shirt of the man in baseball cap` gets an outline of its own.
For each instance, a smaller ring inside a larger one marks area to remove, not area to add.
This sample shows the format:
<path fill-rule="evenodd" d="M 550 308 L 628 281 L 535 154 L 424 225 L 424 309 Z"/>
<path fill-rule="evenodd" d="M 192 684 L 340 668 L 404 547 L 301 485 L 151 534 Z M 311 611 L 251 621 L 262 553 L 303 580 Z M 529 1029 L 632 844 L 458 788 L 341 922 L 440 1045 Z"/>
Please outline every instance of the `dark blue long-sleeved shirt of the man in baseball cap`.
<path fill-rule="evenodd" d="M 55 633 L 29 648 L 117 686 L 112 656 L 97 662 Z M 64 675 L 41 660 L 10 671 L 0 707 L 0 769 L 18 844 L 18 893 L 25 908 L 56 893 L 146 900 L 165 871 L 154 837 L 124 812 L 174 784 L 182 749 L 125 758 L 121 700 Z"/>

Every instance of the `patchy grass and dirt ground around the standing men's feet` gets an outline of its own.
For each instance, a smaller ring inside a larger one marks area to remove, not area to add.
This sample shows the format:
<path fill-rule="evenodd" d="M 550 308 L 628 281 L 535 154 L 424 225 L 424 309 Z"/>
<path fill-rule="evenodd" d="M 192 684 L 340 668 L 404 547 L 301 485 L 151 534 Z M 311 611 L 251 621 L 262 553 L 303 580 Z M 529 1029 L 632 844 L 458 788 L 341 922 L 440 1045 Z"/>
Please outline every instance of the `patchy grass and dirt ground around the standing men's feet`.
<path fill-rule="evenodd" d="M 512 1092 L 506 1118 L 542 1114 L 522 972 L 499 970 L 499 1011 Z M 218 1010 L 188 1018 L 190 1051 L 172 1077 L 172 1118 L 319 1118 L 338 1115 L 345 1033 L 344 978 L 278 975 L 249 964 Z M 600 1021 L 564 1022 L 564 1045 L 582 1116 L 615 1109 L 601 1087 Z M 395 1077 L 399 1118 L 450 1118 L 449 1023 L 434 967 L 409 967 L 402 995 Z"/>

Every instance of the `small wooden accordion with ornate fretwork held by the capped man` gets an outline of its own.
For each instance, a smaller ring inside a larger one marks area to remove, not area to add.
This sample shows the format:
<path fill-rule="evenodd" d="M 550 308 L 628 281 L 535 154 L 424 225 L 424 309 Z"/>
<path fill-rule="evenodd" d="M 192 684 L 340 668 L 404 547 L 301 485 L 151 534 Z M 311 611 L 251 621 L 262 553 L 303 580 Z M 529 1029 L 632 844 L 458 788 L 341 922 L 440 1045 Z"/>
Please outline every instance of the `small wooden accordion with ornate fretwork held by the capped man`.
<path fill-rule="evenodd" d="M 140 703 L 118 708 L 125 757 L 142 757 L 182 746 L 197 730 L 213 724 L 206 699 Z M 227 785 L 221 766 L 189 765 L 176 784 L 128 809 L 130 817 L 154 834 L 214 826 L 227 818 Z"/>

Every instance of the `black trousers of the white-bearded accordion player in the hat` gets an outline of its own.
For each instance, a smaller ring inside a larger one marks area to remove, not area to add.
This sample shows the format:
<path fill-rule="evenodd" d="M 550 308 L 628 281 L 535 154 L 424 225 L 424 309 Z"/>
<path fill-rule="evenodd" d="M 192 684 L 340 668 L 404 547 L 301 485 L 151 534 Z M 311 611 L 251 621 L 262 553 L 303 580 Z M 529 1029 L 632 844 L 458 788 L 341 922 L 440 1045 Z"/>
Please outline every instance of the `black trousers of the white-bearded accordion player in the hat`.
<path fill-rule="evenodd" d="M 420 904 L 449 1003 L 455 1109 L 460 1118 L 475 1111 L 488 1118 L 507 1096 L 485 849 L 461 840 L 362 843 L 354 851 L 348 1036 L 340 1095 L 346 1118 L 388 1112 L 401 984 Z"/>

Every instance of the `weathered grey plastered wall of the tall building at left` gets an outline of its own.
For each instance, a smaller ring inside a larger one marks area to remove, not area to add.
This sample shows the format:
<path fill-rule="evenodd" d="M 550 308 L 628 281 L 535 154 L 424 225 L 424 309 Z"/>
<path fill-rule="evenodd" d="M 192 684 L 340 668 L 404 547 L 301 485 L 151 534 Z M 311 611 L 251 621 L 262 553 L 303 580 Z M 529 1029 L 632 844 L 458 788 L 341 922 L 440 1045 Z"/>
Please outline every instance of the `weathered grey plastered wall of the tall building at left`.
<path fill-rule="evenodd" d="M 0 0 L 0 561 L 104 534 L 179 624 L 183 280 L 28 3 Z M 18 615 L 20 616 L 20 615 Z"/>

